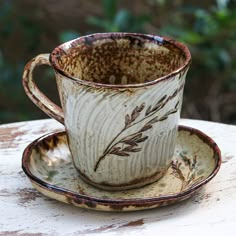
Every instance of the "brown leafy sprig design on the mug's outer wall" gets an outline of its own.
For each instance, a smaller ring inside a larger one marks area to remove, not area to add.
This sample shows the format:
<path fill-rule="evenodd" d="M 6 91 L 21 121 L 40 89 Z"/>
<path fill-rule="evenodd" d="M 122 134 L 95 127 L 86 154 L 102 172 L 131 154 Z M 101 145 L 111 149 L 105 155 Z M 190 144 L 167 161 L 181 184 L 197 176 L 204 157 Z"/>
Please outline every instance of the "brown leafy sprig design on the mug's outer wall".
<path fill-rule="evenodd" d="M 128 157 L 132 153 L 140 152 L 142 150 L 142 148 L 140 147 L 141 143 L 145 142 L 148 139 L 148 135 L 145 135 L 145 132 L 152 129 L 155 123 L 168 119 L 168 117 L 171 114 L 174 114 L 178 111 L 179 101 L 176 103 L 173 109 L 170 109 L 164 115 L 162 116 L 156 115 L 157 112 L 159 112 L 171 99 L 173 99 L 178 94 L 178 92 L 181 91 L 183 86 L 184 85 L 176 89 L 174 93 L 170 95 L 169 97 L 167 95 L 164 95 L 153 106 L 151 105 L 148 106 L 147 109 L 144 109 L 145 103 L 142 103 L 141 105 L 136 106 L 134 110 L 131 112 L 131 114 L 126 114 L 124 118 L 124 123 L 125 123 L 124 128 L 111 140 L 109 145 L 104 150 L 102 156 L 99 157 L 94 167 L 94 171 L 97 170 L 101 161 L 105 157 L 107 157 L 108 154 Z M 140 118 L 140 116 L 142 118 Z M 149 118 L 151 119 L 148 120 Z M 148 121 L 135 133 L 119 139 L 120 135 L 125 130 L 145 120 L 148 120 Z"/>

